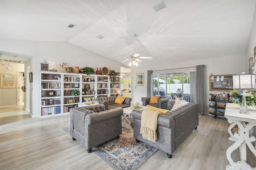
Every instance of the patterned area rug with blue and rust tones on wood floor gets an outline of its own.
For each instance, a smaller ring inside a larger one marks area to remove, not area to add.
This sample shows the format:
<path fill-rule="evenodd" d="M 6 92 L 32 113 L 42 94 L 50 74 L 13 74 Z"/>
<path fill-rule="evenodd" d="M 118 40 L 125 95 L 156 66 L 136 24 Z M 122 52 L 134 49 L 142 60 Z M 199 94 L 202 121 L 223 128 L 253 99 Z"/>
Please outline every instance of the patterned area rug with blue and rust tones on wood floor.
<path fill-rule="evenodd" d="M 63 128 L 70 133 L 70 127 Z M 119 139 L 112 139 L 92 148 L 92 152 L 114 170 L 136 170 L 158 149 L 133 138 L 133 129 L 122 128 Z"/>

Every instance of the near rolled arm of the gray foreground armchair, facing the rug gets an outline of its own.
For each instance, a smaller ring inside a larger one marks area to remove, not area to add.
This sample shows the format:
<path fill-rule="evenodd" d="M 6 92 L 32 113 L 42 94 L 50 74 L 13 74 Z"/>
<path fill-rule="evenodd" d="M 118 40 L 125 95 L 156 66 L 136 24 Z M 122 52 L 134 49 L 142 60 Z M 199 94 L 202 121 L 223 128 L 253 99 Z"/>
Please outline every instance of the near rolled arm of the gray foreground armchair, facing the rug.
<path fill-rule="evenodd" d="M 110 109 L 107 111 L 101 111 L 99 113 L 91 113 L 86 115 L 85 122 L 87 125 L 94 125 L 100 122 L 108 121 L 116 117 L 121 117 L 124 110 L 121 107 Z"/>

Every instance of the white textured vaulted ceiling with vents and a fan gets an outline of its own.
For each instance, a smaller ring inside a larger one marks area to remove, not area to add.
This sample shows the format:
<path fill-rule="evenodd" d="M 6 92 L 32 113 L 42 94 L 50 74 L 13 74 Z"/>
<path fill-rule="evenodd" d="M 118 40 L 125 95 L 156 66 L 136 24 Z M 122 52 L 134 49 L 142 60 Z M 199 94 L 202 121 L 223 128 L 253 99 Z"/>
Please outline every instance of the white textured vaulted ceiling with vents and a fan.
<path fill-rule="evenodd" d="M 155 12 L 159 2 L 1 0 L 1 38 L 70 42 L 121 62 L 136 33 L 135 53 L 153 57 L 141 64 L 246 53 L 256 0 L 165 0 Z"/>

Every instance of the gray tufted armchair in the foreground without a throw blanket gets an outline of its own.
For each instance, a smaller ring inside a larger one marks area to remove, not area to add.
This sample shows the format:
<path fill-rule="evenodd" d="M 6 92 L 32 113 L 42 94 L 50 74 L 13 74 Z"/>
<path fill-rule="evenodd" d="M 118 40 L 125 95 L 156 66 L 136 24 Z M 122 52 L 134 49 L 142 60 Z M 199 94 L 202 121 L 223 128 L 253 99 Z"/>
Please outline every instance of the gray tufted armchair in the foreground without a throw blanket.
<path fill-rule="evenodd" d="M 70 109 L 70 135 L 85 146 L 87 152 L 122 134 L 121 107 L 105 111 L 103 104 Z"/>

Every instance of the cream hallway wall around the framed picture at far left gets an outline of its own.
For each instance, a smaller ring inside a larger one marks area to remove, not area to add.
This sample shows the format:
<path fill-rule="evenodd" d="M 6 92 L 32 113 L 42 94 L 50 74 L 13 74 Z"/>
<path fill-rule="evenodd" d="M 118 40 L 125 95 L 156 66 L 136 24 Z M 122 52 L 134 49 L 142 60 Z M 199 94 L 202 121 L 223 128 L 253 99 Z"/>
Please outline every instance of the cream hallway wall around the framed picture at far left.
<path fill-rule="evenodd" d="M 10 67 L 11 69 L 7 69 L 7 67 Z M 18 72 L 24 72 L 24 64 L 4 62 L 4 65 L 0 65 L 1 74 L 16 75 L 16 88 L 0 88 L 0 107 L 12 107 L 18 105 Z"/>

